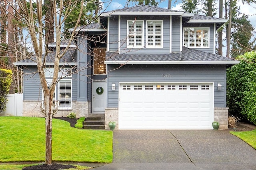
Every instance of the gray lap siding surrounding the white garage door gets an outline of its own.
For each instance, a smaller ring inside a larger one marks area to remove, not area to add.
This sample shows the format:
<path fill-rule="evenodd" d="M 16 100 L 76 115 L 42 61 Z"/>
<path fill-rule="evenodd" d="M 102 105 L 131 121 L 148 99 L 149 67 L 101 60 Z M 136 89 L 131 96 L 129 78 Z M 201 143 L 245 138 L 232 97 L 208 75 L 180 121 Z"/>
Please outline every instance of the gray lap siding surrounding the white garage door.
<path fill-rule="evenodd" d="M 119 82 L 214 82 L 214 107 L 226 107 L 226 65 L 108 65 L 107 107 L 118 107 Z M 115 68 L 118 68 L 115 70 Z M 171 77 L 163 77 L 171 74 Z M 112 83 L 116 90 L 112 90 Z M 217 89 L 222 84 L 222 90 Z"/>

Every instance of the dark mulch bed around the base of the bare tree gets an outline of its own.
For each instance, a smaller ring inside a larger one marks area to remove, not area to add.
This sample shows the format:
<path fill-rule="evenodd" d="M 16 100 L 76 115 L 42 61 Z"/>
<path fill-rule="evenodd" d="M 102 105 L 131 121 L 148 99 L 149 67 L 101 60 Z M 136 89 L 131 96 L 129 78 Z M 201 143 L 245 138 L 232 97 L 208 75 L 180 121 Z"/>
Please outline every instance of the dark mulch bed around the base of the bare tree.
<path fill-rule="evenodd" d="M 55 164 L 52 165 L 41 164 L 41 165 L 33 165 L 33 166 L 26 166 L 22 168 L 23 170 L 61 170 L 61 169 L 69 169 L 69 168 L 76 168 L 73 165 L 63 165 L 63 164 Z"/>

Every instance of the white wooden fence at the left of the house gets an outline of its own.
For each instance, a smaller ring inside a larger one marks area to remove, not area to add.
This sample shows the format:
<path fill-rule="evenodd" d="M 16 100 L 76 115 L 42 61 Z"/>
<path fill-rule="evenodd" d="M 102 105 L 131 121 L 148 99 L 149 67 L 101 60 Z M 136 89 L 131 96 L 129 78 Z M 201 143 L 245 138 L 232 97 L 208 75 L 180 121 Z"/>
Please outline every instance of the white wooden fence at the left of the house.
<path fill-rule="evenodd" d="M 23 116 L 23 94 L 8 94 L 7 99 L 6 111 L 0 113 L 0 116 Z"/>

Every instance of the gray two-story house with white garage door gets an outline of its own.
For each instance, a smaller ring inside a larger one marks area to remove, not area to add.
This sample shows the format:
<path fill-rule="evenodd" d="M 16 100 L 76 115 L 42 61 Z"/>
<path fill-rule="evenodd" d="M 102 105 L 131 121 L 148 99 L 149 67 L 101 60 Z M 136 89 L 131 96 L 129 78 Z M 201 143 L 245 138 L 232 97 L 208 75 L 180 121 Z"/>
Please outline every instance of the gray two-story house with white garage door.
<path fill-rule="evenodd" d="M 239 61 L 215 54 L 226 20 L 145 5 L 99 19 L 75 30 L 75 61 L 61 67 L 76 71 L 56 87 L 58 116 L 102 113 L 119 129 L 211 129 L 213 121 L 228 128 L 226 68 Z M 39 84 L 36 74 L 25 75 L 24 115 L 38 114 Z"/>

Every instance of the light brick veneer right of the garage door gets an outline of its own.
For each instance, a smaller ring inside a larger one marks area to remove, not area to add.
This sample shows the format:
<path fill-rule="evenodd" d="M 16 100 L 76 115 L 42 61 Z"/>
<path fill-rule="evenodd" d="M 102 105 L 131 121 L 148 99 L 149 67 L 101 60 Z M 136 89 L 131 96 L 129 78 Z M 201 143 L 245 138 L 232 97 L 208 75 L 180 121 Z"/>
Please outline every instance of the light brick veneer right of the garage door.
<path fill-rule="evenodd" d="M 220 123 L 219 130 L 228 129 L 228 107 L 214 107 L 214 121 Z"/>

